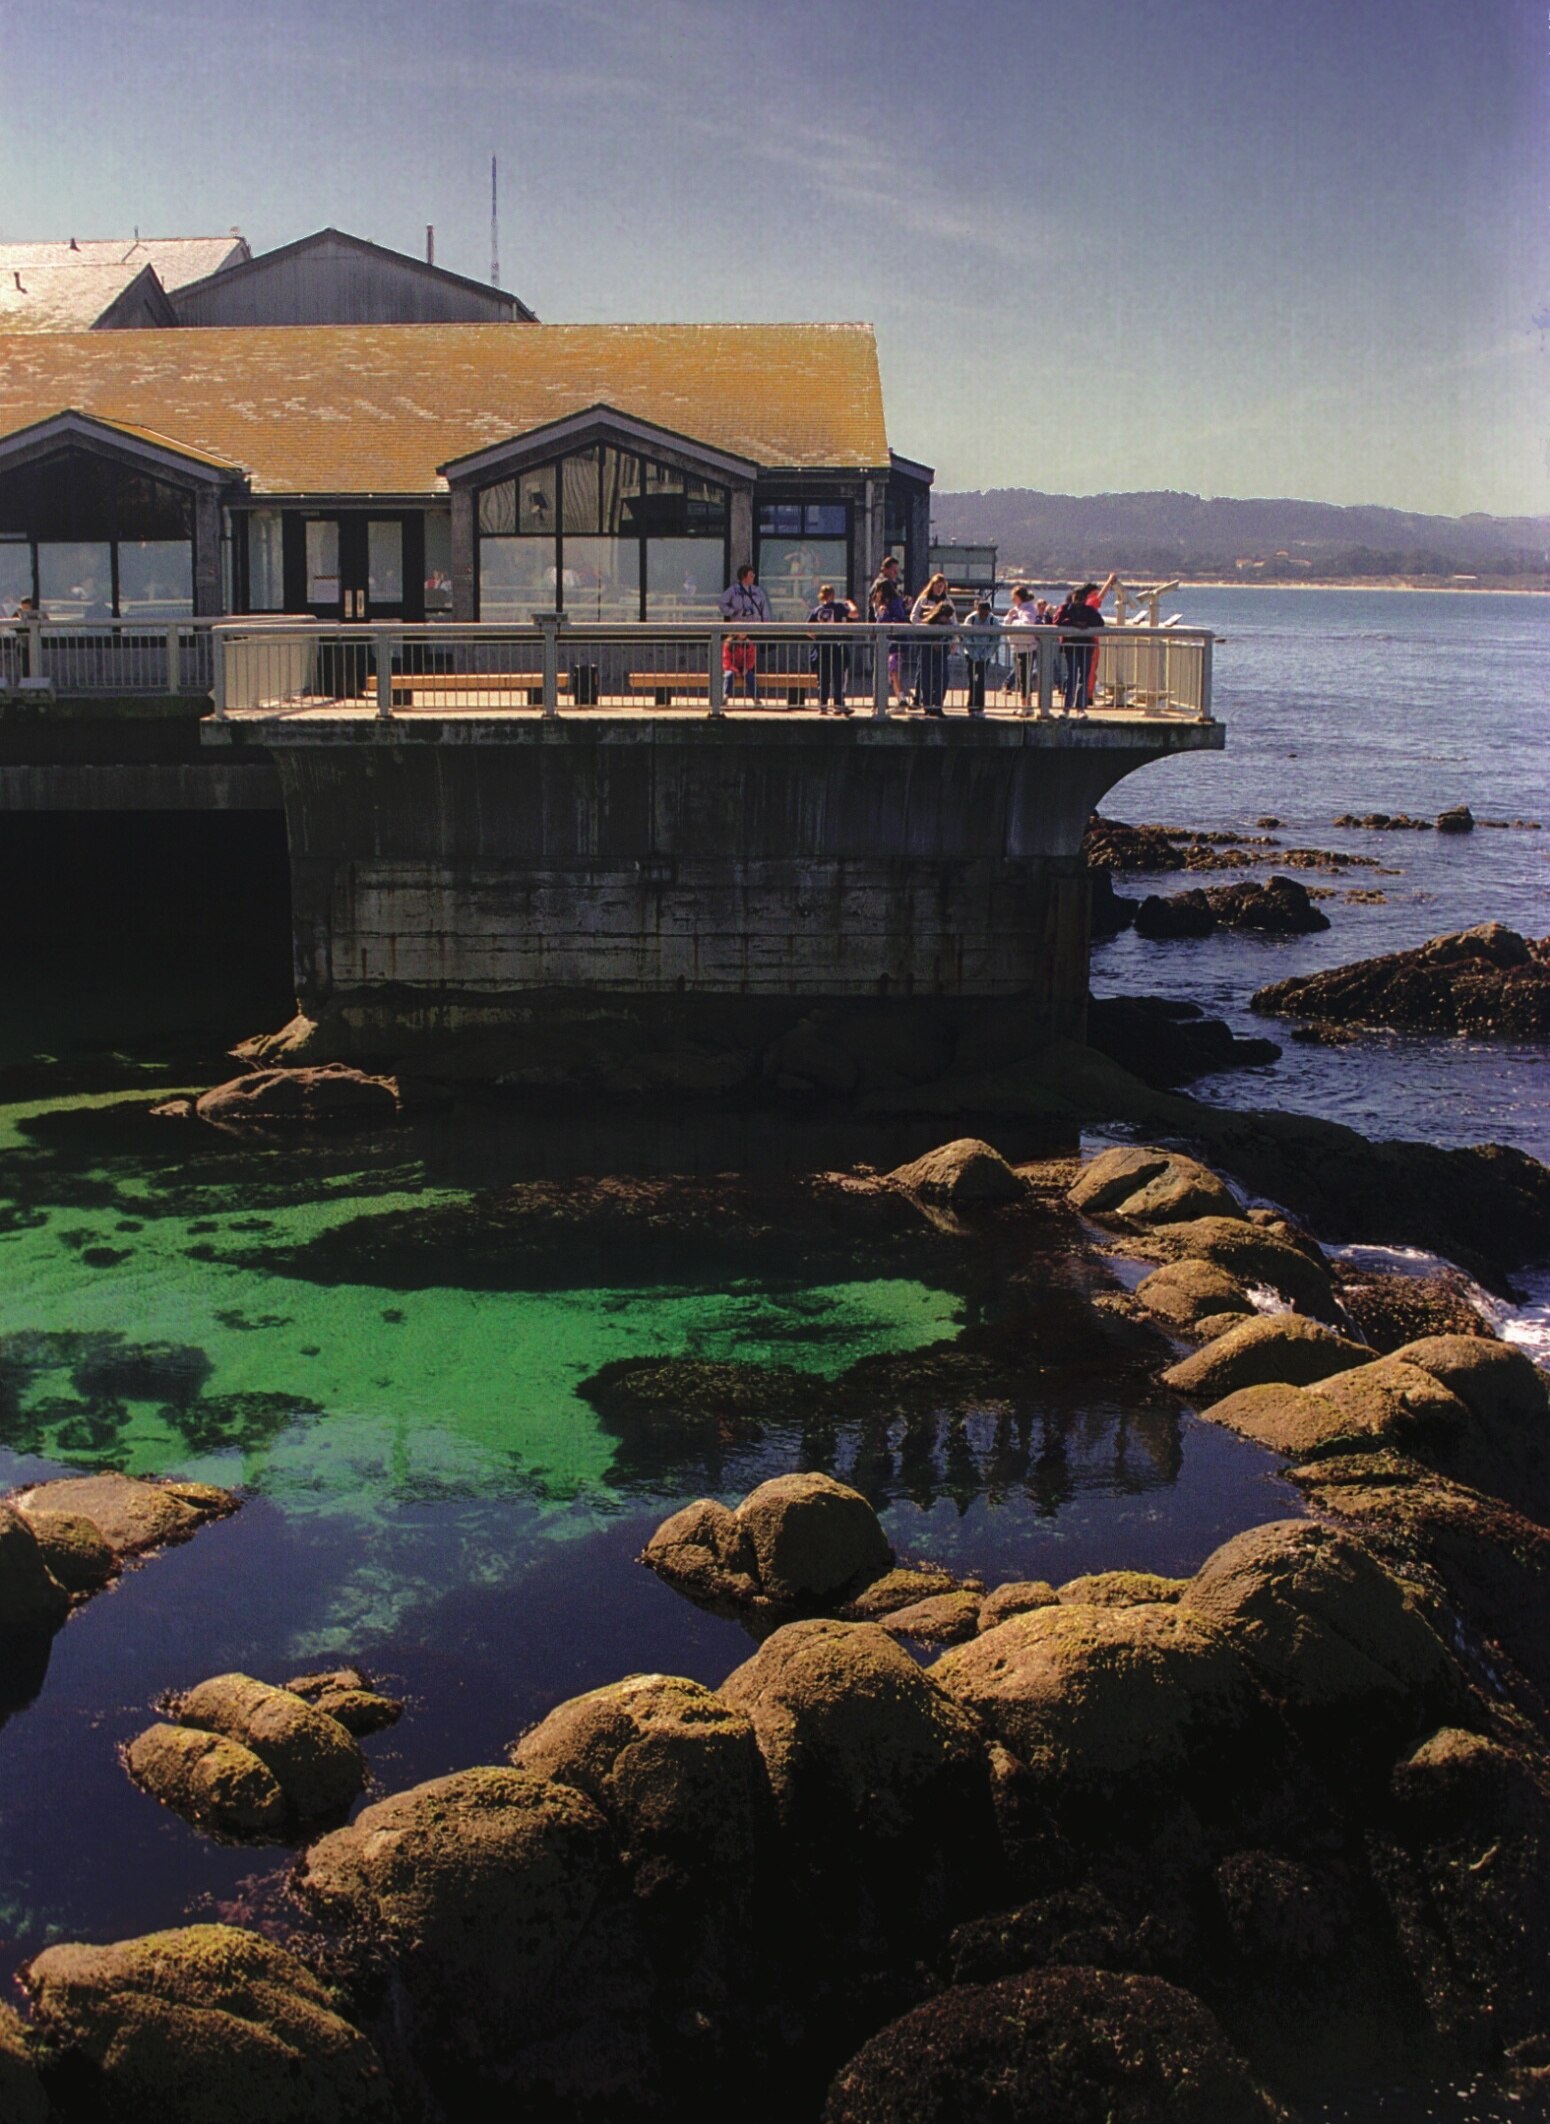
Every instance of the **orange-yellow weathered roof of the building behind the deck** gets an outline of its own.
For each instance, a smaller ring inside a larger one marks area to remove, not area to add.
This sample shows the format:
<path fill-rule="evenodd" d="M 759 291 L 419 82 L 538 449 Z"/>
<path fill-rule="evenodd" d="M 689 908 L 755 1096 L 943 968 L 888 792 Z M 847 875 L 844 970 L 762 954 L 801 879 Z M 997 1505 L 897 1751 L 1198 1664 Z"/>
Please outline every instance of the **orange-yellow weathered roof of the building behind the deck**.
<path fill-rule="evenodd" d="M 74 408 L 261 495 L 440 493 L 437 465 L 599 404 L 769 467 L 888 465 L 871 325 L 0 333 L 0 435 Z"/>

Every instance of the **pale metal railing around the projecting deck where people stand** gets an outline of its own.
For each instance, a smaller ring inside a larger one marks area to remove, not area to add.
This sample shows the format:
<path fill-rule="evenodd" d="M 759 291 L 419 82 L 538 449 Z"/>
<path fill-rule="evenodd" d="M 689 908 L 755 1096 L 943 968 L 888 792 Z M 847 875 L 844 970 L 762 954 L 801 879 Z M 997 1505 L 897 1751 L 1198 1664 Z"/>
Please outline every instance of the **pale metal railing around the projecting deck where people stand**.
<path fill-rule="evenodd" d="M 1210 722 L 1210 633 L 1110 627 L 531 627 L 223 620 L 217 716 L 355 707 L 442 709 L 805 707 L 888 716 L 1085 714 Z"/>

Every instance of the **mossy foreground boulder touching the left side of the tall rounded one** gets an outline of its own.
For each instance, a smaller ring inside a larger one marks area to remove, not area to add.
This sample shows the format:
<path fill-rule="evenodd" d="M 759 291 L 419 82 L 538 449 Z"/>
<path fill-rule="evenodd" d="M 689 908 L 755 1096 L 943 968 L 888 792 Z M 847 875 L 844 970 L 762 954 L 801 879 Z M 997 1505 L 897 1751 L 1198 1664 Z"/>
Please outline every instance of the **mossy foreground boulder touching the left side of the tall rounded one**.
<path fill-rule="evenodd" d="M 733 1882 L 764 1856 L 773 1808 L 758 1737 L 701 1682 L 631 1674 L 561 1703 L 510 1757 L 586 1793 L 626 1863 L 665 1858 Z"/>

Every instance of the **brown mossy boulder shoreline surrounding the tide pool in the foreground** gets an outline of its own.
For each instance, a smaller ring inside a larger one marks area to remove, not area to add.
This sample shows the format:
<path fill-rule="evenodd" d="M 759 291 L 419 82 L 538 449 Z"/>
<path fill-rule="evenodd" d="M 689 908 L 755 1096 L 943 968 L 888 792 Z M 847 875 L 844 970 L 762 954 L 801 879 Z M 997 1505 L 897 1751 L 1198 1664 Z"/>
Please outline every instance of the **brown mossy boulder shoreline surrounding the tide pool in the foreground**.
<path fill-rule="evenodd" d="M 1149 1115 L 1204 1111 L 1125 1083 Z M 125 1774 L 191 1835 L 293 1844 L 291 1903 L 265 1931 L 47 1948 L 32 2018 L 0 2009 L 4 2116 L 595 2124 L 709 2120 L 758 2088 L 826 2124 L 994 2103 L 1232 2124 L 1463 2071 L 1544 2101 L 1550 1393 L 1463 1285 L 1389 1289 L 1314 1232 L 1367 1236 L 1380 1196 L 1412 1243 L 1491 1232 L 1505 1279 L 1550 1253 L 1550 1175 L 1221 1121 L 1210 1162 L 1183 1130 L 1087 1164 L 958 1138 L 890 1172 L 527 1183 L 302 1249 L 297 1272 L 372 1283 L 435 1281 L 457 1251 L 505 1287 L 601 1260 L 845 1262 L 972 1304 L 949 1342 L 832 1383 L 692 1361 L 588 1381 L 622 1459 L 650 1440 L 660 1468 L 667 1436 L 684 1478 L 716 1483 L 739 1425 L 779 1412 L 805 1438 L 800 1472 L 686 1504 L 641 1559 L 747 1629 L 716 1689 L 624 1676 L 505 1763 L 352 1818 L 355 1735 L 399 1710 L 365 1674 L 168 1699 Z M 1032 1378 L 1198 1410 L 1272 1451 L 1308 1517 L 1187 1578 L 987 1585 L 898 1557 L 862 1489 L 813 1466 L 828 1427 L 900 1412 L 951 1434 L 1002 1406 L 1015 1436 Z M 6 1638 L 104 1582 L 91 1534 L 110 1572 L 234 1504 L 121 1476 L 11 1500 Z"/>

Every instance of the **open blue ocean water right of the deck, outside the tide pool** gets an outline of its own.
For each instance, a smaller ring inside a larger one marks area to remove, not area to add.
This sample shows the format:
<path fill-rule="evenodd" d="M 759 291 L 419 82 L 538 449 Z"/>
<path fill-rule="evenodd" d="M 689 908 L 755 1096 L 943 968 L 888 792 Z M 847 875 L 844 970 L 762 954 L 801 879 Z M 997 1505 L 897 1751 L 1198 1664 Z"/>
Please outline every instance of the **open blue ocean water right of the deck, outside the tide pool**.
<path fill-rule="evenodd" d="M 1497 1041 L 1374 1032 L 1306 1047 L 1289 1024 L 1255 1017 L 1255 988 L 1401 952 L 1476 922 L 1550 932 L 1550 597 L 1425 590 L 1178 590 L 1191 627 L 1219 635 L 1217 712 L 1227 750 L 1164 760 L 1104 799 L 1113 818 L 1253 833 L 1274 816 L 1287 847 L 1340 850 L 1376 869 L 1333 886 L 1314 937 L 1219 935 L 1147 943 L 1134 932 L 1093 952 L 1096 994 L 1191 998 L 1240 1032 L 1282 1041 L 1280 1062 L 1195 1085 L 1223 1104 L 1282 1104 L 1370 1136 L 1516 1143 L 1550 1158 L 1550 1051 Z M 1471 835 L 1338 828 L 1342 813 L 1476 818 L 1542 830 Z M 1119 877 L 1127 896 L 1268 877 Z M 1348 892 L 1378 890 L 1380 905 Z"/>

